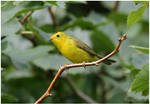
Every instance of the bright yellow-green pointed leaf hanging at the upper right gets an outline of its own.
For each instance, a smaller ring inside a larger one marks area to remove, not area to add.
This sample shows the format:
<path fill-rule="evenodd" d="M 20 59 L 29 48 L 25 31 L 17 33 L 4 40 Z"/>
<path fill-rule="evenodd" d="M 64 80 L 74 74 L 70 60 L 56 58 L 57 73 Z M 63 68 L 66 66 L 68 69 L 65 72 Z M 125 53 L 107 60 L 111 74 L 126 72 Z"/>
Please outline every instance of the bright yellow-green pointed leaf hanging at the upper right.
<path fill-rule="evenodd" d="M 146 9 L 146 5 L 140 7 L 138 10 L 136 11 L 133 11 L 131 12 L 129 15 L 128 15 L 128 18 L 127 18 L 127 24 L 128 24 L 128 27 L 130 28 L 133 24 L 135 24 L 136 22 L 140 21 L 141 18 L 142 18 L 142 15 L 144 13 Z"/>

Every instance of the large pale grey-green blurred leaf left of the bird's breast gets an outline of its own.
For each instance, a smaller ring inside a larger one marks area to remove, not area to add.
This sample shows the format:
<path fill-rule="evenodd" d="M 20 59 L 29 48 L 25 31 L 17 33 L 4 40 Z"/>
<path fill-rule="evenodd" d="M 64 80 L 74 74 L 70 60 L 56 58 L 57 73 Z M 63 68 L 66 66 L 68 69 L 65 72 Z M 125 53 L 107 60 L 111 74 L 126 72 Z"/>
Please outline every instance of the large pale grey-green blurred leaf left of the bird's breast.
<path fill-rule="evenodd" d="M 51 46 L 38 46 L 36 48 L 29 48 L 26 50 L 17 50 L 14 49 L 12 46 L 9 46 L 3 52 L 8 55 L 13 64 L 18 69 L 30 69 L 31 66 L 29 62 L 36 58 L 43 57 L 48 54 L 48 51 L 52 50 Z"/>

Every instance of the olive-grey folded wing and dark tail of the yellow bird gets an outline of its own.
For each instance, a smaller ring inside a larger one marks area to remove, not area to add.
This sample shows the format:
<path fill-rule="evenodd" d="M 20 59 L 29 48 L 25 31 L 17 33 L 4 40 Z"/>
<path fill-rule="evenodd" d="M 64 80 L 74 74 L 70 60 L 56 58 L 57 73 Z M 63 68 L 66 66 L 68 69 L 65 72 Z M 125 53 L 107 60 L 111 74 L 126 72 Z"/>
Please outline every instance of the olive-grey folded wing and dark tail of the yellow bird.
<path fill-rule="evenodd" d="M 102 56 L 98 55 L 96 52 L 93 51 L 93 49 L 91 49 L 88 45 L 86 45 L 84 42 L 82 42 L 81 40 L 79 40 L 76 37 L 71 36 L 70 37 L 72 40 L 75 41 L 75 44 L 78 48 L 83 49 L 84 51 L 86 51 L 87 53 L 89 53 L 91 56 L 96 56 L 98 58 L 103 58 Z M 116 62 L 115 60 L 111 60 L 111 59 L 107 59 L 105 61 L 106 64 L 111 64 Z"/>

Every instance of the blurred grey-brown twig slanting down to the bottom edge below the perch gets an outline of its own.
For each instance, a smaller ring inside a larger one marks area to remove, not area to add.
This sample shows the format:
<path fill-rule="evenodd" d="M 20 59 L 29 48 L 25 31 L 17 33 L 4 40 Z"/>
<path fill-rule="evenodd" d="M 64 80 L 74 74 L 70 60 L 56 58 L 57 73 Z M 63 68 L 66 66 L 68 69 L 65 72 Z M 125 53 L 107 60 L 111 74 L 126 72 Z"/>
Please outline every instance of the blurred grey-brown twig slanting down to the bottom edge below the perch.
<path fill-rule="evenodd" d="M 68 85 L 70 86 L 70 88 L 72 89 L 72 91 L 79 96 L 81 99 L 83 99 L 86 103 L 96 103 L 93 99 L 91 99 L 89 96 L 85 95 L 83 92 L 81 92 L 79 89 L 77 89 L 74 85 L 74 83 L 72 82 L 71 79 L 69 79 L 67 76 L 63 76 L 63 79 L 65 79 L 68 83 Z"/>

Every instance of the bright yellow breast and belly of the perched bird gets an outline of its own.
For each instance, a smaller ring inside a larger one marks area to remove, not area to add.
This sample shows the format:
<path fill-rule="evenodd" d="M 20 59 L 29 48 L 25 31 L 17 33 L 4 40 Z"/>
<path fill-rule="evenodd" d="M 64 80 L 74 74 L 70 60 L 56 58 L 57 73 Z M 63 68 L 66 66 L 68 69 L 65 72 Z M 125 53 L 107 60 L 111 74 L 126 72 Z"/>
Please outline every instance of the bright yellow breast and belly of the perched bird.
<path fill-rule="evenodd" d="M 98 60 L 97 57 L 91 56 L 89 53 L 76 46 L 73 40 L 68 39 L 63 42 L 60 52 L 73 63 L 82 63 Z"/>

